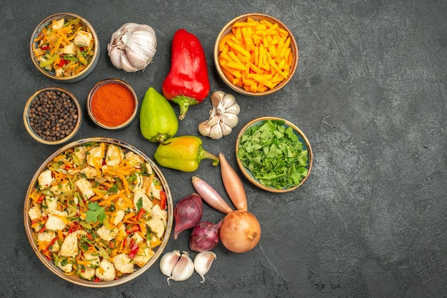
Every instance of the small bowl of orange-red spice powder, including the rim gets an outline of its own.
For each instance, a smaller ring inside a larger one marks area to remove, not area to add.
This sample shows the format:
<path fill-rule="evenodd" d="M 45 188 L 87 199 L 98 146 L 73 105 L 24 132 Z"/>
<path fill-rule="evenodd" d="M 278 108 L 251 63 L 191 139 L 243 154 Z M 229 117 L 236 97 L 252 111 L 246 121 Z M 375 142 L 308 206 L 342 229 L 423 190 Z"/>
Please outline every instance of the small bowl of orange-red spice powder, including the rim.
<path fill-rule="evenodd" d="M 87 98 L 87 112 L 101 128 L 125 128 L 136 116 L 138 98 L 134 88 L 118 78 L 99 81 Z"/>

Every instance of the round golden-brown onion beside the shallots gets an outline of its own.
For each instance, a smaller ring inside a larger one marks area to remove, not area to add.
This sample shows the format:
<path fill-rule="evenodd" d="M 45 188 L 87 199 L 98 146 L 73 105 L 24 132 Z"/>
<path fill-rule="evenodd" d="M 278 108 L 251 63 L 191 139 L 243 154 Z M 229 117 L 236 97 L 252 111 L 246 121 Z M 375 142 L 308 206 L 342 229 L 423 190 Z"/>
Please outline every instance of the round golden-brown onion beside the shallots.
<path fill-rule="evenodd" d="M 224 217 L 219 236 L 227 250 L 236 253 L 248 252 L 253 250 L 261 239 L 261 225 L 250 212 L 236 210 Z"/>

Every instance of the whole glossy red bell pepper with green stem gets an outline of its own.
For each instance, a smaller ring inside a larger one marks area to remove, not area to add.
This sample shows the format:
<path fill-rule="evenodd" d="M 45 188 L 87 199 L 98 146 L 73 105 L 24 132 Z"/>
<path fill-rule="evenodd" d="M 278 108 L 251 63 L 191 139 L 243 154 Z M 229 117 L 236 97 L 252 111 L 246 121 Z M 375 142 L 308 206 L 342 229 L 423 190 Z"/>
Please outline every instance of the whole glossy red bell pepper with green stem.
<path fill-rule="evenodd" d="M 183 119 L 189 106 L 204 101 L 210 85 L 204 48 L 194 34 L 179 29 L 171 44 L 171 70 L 161 87 L 164 96 L 180 106 Z"/>

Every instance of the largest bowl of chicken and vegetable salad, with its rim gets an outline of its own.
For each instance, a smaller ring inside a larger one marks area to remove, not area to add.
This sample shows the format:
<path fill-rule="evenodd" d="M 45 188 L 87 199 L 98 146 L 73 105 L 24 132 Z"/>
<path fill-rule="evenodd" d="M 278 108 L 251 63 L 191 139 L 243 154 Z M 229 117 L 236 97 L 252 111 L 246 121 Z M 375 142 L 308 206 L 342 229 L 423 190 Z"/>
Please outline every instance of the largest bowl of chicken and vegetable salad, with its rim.
<path fill-rule="evenodd" d="M 149 269 L 173 226 L 169 185 L 157 165 L 120 140 L 86 138 L 57 150 L 26 192 L 31 247 L 54 274 L 112 287 Z"/>

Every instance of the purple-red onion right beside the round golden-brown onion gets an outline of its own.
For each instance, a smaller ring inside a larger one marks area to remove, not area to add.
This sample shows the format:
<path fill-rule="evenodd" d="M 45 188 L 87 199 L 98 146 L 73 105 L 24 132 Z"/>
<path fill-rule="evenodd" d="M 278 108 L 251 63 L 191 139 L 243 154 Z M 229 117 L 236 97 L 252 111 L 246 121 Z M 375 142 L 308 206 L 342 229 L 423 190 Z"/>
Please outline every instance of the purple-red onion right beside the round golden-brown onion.
<path fill-rule="evenodd" d="M 216 224 L 213 222 L 201 222 L 196 225 L 189 237 L 189 248 L 196 252 L 207 252 L 219 243 L 219 229 L 222 220 Z"/>

